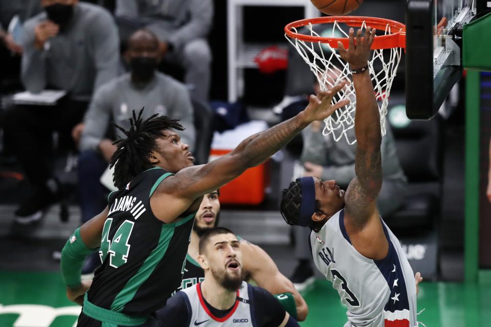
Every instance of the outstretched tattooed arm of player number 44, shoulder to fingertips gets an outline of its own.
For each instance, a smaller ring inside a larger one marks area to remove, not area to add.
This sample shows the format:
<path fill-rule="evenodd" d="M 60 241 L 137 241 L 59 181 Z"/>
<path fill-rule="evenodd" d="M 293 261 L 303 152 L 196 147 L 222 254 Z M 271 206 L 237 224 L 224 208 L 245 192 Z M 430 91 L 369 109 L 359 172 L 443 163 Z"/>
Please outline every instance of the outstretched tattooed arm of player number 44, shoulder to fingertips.
<path fill-rule="evenodd" d="M 152 195 L 158 199 L 152 201 L 166 203 L 166 213 L 171 216 L 175 212 L 184 212 L 196 198 L 220 188 L 246 169 L 260 165 L 311 122 L 323 120 L 345 106 L 348 100 L 331 105 L 332 97 L 343 86 L 344 82 L 320 92 L 317 97 L 310 96 L 307 107 L 294 118 L 244 139 L 232 152 L 206 165 L 188 167 L 166 178 L 157 194 Z"/>

